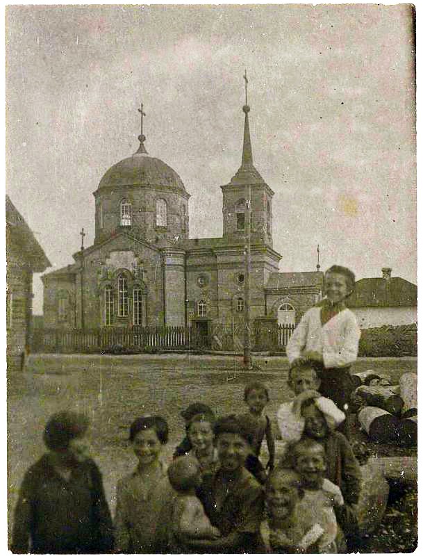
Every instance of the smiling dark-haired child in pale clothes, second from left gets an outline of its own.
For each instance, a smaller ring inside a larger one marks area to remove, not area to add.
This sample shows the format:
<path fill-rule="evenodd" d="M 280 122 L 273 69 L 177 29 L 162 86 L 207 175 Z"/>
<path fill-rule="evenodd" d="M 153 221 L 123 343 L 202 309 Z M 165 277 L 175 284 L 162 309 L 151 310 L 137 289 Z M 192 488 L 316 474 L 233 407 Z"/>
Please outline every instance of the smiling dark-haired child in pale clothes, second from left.
<path fill-rule="evenodd" d="M 167 470 L 160 460 L 168 434 L 166 420 L 158 415 L 140 417 L 131 425 L 129 441 L 138 466 L 117 483 L 115 548 L 118 553 L 159 551 L 160 516 L 172 501 Z"/>

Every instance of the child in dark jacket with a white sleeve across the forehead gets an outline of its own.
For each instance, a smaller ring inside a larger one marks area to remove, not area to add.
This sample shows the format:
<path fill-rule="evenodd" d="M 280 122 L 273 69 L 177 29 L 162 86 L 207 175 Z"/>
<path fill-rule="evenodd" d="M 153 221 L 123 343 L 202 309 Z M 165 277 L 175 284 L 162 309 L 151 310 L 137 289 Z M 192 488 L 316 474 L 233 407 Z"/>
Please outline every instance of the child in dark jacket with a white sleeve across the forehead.
<path fill-rule="evenodd" d="M 352 541 L 357 534 L 356 504 L 361 488 L 361 471 L 358 461 L 345 436 L 338 431 L 331 430 L 324 408 L 319 409 L 315 400 L 304 400 L 301 406 L 301 415 L 305 420 L 302 438 L 313 439 L 322 444 L 326 454 L 325 476 L 339 486 L 342 492 L 345 504 L 342 507 L 336 507 L 336 514 L 338 523 L 347 537 L 347 542 L 349 539 Z M 290 452 L 288 460 L 290 457 L 292 458 L 292 450 Z M 292 459 L 290 466 L 295 467 Z"/>

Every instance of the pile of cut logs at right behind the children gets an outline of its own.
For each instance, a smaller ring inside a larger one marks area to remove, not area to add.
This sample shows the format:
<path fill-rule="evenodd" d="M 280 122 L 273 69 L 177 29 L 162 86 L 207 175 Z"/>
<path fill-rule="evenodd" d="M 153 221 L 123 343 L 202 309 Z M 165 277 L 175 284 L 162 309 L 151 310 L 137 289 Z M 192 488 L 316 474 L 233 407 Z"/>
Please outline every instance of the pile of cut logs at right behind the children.
<path fill-rule="evenodd" d="M 351 397 L 360 426 L 374 442 L 417 444 L 417 375 L 404 373 L 399 384 L 366 370 L 353 375 L 356 390 Z"/>

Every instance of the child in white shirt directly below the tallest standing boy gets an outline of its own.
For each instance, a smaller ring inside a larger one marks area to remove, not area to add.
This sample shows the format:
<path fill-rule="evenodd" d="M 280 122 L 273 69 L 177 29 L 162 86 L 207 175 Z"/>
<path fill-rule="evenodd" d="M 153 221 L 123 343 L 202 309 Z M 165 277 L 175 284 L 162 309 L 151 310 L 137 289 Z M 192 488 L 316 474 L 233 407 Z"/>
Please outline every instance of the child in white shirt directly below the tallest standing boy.
<path fill-rule="evenodd" d="M 326 423 L 335 429 L 345 419 L 345 414 L 329 400 L 323 398 L 318 392 L 320 378 L 311 361 L 300 361 L 290 366 L 288 386 L 295 393 L 292 402 L 281 404 L 276 414 L 282 439 L 286 442 L 298 441 L 303 432 L 305 420 L 301 416 L 301 406 L 305 400 L 313 399 L 318 408 L 324 411 Z"/>

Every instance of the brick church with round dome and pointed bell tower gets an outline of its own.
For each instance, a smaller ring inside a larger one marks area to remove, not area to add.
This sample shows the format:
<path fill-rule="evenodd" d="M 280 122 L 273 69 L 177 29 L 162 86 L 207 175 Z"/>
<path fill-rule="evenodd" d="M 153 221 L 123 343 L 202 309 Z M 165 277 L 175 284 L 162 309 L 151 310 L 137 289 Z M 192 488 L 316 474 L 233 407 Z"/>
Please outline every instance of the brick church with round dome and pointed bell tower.
<path fill-rule="evenodd" d="M 93 193 L 94 244 L 42 277 L 44 327 L 192 325 L 214 334 L 219 326 L 241 325 L 248 208 L 251 322 L 299 321 L 322 293 L 322 272 L 279 273 L 274 192 L 254 166 L 249 106 L 242 111 L 241 165 L 221 186 L 222 237 L 190 238 L 190 194 L 169 165 L 147 153 L 141 133 L 138 151 L 110 167 Z"/>

